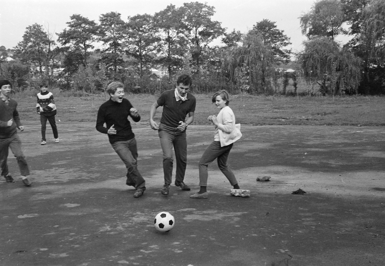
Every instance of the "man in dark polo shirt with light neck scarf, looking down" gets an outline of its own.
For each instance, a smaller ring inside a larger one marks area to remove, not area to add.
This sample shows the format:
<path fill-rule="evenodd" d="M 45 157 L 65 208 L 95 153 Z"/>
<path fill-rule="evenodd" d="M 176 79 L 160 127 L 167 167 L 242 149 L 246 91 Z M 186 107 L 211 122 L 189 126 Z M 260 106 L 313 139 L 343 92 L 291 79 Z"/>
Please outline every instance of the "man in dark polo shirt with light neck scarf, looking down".
<path fill-rule="evenodd" d="M 190 190 L 184 183 L 184 173 L 187 165 L 187 125 L 194 121 L 196 100 L 188 92 L 192 84 L 189 75 L 183 74 L 176 81 L 174 90 L 167 90 L 162 93 L 159 99 L 151 106 L 150 125 L 153 130 L 158 131 L 163 151 L 163 173 L 164 185 L 161 190 L 163 195 L 169 194 L 172 175 L 172 147 L 174 147 L 176 158 L 175 185 L 182 190 Z M 158 126 L 154 121 L 156 109 L 163 106 L 161 123 Z M 186 115 L 189 117 L 186 119 Z"/>

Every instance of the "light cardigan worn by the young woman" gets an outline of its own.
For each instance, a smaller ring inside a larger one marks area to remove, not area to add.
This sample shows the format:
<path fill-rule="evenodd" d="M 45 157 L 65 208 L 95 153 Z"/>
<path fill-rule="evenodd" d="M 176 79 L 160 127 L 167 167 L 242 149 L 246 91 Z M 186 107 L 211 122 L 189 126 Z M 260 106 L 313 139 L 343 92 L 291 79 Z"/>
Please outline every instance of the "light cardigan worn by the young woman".
<path fill-rule="evenodd" d="M 225 106 L 219 111 L 217 121 L 218 126 L 215 126 L 214 141 L 220 141 L 221 147 L 230 145 L 241 138 L 241 124 L 235 124 L 235 116 L 229 106 Z"/>

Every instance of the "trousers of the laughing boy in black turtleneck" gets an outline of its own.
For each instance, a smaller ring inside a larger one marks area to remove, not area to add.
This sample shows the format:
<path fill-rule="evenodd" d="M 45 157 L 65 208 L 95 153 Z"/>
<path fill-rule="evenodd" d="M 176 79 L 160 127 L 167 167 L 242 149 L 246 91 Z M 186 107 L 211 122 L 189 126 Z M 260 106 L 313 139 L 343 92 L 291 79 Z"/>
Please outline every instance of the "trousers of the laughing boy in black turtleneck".
<path fill-rule="evenodd" d="M 115 152 L 122 159 L 127 168 L 128 186 L 134 186 L 136 190 L 146 190 L 146 181 L 139 173 L 137 168 L 138 149 L 136 146 L 136 139 L 132 138 L 127 141 L 116 141 L 111 144 Z"/>

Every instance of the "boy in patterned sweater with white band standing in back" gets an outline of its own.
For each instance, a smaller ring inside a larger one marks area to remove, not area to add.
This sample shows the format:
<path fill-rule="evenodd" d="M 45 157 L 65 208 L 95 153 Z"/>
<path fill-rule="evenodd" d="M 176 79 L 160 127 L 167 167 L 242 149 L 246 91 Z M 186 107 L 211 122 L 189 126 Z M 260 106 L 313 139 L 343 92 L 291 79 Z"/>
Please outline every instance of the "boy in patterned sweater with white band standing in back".
<path fill-rule="evenodd" d="M 40 93 L 37 94 L 36 111 L 40 115 L 40 122 L 42 123 L 42 143 L 47 144 L 45 139 L 45 127 L 47 120 L 49 121 L 52 131 L 54 132 L 55 142 L 59 142 L 59 136 L 57 134 L 57 127 L 55 122 L 56 105 L 54 101 L 54 95 L 48 91 L 48 87 L 45 84 L 40 85 Z"/>

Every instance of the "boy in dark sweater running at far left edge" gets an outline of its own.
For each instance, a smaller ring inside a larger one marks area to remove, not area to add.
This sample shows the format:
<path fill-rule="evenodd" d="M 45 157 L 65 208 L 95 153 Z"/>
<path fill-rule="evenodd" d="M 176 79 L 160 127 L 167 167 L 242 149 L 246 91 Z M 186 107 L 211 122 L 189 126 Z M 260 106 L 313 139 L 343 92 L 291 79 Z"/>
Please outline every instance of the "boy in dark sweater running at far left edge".
<path fill-rule="evenodd" d="M 24 130 L 24 126 L 20 123 L 19 113 L 17 111 L 17 102 L 10 98 L 12 85 L 8 80 L 0 80 L 0 167 L 1 175 L 4 176 L 7 183 L 13 183 L 12 176 L 9 174 L 7 158 L 8 148 L 15 155 L 17 164 L 20 168 L 22 181 L 25 186 L 30 186 L 28 181 L 29 168 L 22 151 L 22 142 L 17 136 L 17 129 Z"/>

